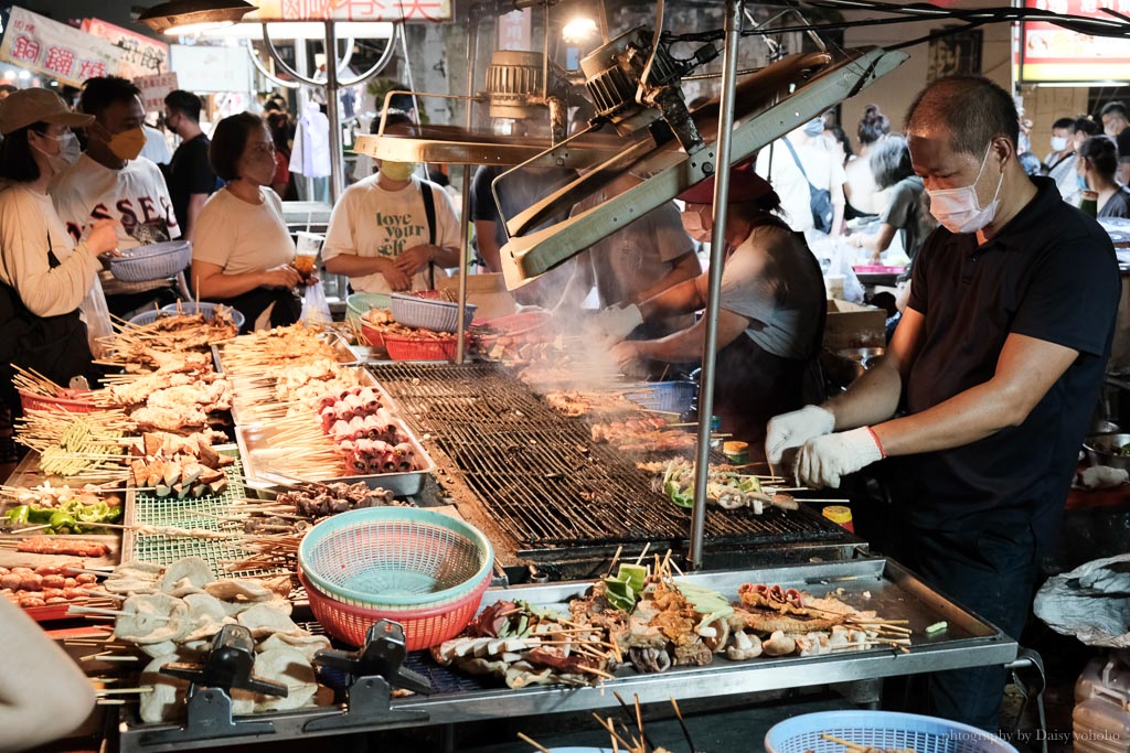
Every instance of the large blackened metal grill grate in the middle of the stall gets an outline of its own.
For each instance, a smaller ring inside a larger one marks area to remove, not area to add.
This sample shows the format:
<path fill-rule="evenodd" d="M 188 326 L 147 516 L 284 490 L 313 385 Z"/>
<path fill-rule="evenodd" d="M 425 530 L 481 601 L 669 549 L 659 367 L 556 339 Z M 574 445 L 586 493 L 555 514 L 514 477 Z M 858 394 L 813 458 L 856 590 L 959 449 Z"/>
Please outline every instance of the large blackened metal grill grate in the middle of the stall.
<path fill-rule="evenodd" d="M 373 367 L 417 436 L 458 469 L 487 513 L 530 548 L 602 545 L 689 535 L 690 515 L 652 491 L 633 458 L 592 443 L 498 364 Z M 706 513 L 706 535 L 733 543 L 829 541 L 842 531 L 809 510 Z"/>

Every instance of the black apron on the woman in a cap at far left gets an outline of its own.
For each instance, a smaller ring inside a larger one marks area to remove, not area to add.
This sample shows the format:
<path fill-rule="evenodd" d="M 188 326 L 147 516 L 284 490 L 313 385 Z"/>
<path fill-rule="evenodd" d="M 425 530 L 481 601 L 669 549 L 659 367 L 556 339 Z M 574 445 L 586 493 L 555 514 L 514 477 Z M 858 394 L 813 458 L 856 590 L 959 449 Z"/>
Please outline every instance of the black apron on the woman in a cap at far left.
<path fill-rule="evenodd" d="M 77 252 L 78 253 L 78 252 Z M 59 259 L 47 237 L 47 264 L 59 266 Z M 0 382 L 6 401 L 19 400 L 11 386 L 12 365 L 34 369 L 60 386 L 68 386 L 71 377 L 85 376 L 92 386 L 99 376 L 90 354 L 86 324 L 79 309 L 56 316 L 37 316 L 24 305 L 19 291 L 0 282 Z"/>

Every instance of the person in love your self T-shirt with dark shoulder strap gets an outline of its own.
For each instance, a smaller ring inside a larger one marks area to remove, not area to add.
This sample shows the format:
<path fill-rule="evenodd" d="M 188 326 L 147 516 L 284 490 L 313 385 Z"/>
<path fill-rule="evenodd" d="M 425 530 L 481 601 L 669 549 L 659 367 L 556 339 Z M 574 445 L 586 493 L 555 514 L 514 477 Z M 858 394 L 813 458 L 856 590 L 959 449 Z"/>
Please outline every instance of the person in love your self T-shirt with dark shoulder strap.
<path fill-rule="evenodd" d="M 434 289 L 436 274 L 459 266 L 461 229 L 451 198 L 412 175 L 412 163 L 375 161 L 376 175 L 346 189 L 333 208 L 322 251 L 325 271 L 345 274 L 364 292 Z"/>

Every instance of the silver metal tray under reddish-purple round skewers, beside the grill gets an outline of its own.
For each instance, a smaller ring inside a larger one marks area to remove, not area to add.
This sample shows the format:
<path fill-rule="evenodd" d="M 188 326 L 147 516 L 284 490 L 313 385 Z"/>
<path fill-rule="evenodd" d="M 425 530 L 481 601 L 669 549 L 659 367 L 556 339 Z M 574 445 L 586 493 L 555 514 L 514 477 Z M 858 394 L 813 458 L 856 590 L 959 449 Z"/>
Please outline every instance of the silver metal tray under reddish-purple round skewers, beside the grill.
<path fill-rule="evenodd" d="M 388 489 L 397 497 L 414 497 L 420 493 L 424 488 L 424 479 L 435 471 L 435 461 L 427 454 L 419 439 L 409 430 L 408 426 L 400 419 L 395 419 L 397 426 L 408 436 L 408 441 L 416 450 L 416 457 L 423 467 L 406 473 L 371 473 L 367 475 L 353 476 L 325 476 L 321 479 L 308 479 L 320 483 L 344 481 L 355 483 L 364 481 L 370 489 Z M 273 492 L 280 485 L 293 485 L 296 476 L 286 472 L 287 448 L 285 446 L 275 447 L 271 438 L 277 432 L 266 426 L 247 426 L 235 428 L 235 441 L 240 446 L 240 454 L 243 456 L 243 467 L 245 483 L 249 488 L 258 491 Z M 272 473 L 272 466 L 276 473 Z"/>

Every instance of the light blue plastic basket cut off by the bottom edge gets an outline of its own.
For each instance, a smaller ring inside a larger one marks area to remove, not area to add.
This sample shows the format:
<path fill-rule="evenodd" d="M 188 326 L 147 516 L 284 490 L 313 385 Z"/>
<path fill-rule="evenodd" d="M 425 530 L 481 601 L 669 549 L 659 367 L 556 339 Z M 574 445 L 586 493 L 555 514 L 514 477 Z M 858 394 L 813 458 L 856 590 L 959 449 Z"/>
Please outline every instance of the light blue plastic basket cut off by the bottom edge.
<path fill-rule="evenodd" d="M 844 753 L 831 735 L 880 750 L 910 747 L 916 753 L 1017 753 L 983 729 L 918 713 L 894 711 L 820 711 L 774 725 L 765 734 L 767 753 Z"/>

